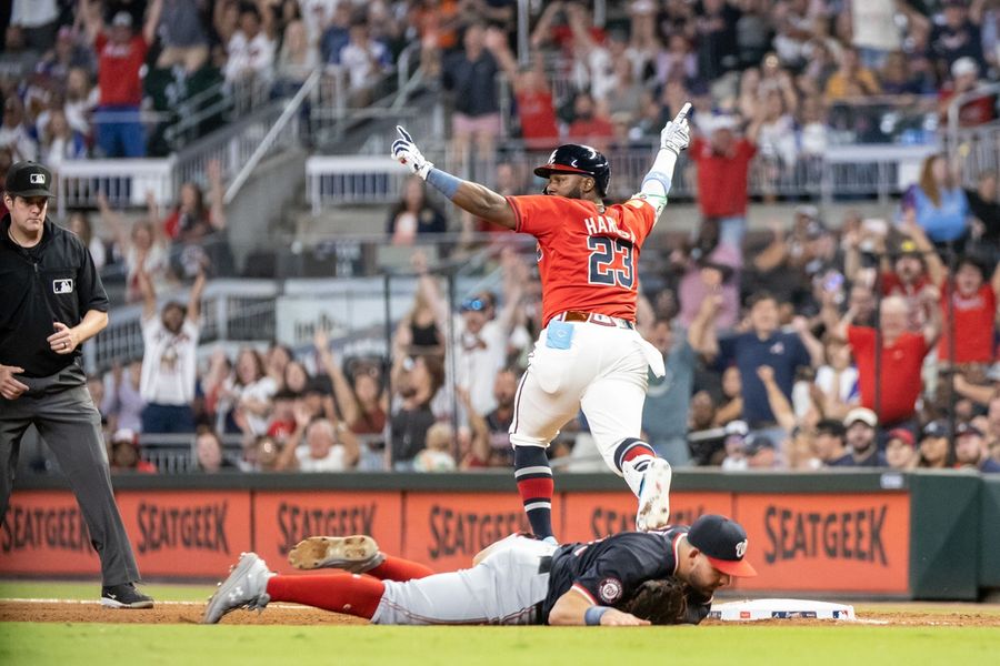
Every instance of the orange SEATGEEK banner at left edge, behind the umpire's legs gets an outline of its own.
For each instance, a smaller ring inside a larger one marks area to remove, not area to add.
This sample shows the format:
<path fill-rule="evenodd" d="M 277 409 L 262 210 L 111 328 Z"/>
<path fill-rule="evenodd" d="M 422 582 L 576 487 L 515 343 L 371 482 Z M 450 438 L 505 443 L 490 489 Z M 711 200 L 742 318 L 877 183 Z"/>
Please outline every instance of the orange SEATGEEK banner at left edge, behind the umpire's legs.
<path fill-rule="evenodd" d="M 90 545 L 87 524 L 72 493 L 11 494 L 0 529 L 0 572 L 94 575 L 100 571 L 100 559 Z"/>

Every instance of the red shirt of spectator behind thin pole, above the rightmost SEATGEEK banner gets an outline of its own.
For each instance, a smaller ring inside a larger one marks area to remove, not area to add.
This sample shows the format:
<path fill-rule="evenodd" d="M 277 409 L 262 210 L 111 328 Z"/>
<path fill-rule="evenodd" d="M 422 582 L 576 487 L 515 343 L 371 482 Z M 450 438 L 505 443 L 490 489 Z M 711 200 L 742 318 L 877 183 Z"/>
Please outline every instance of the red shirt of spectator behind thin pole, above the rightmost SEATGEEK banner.
<path fill-rule="evenodd" d="M 861 404 L 874 410 L 876 394 L 876 331 L 868 326 L 848 326 L 848 341 L 854 350 L 861 384 Z M 920 370 L 927 355 L 927 341 L 918 333 L 903 333 L 891 345 L 882 345 L 881 387 L 879 391 L 880 424 L 909 418 L 917 410 L 917 398 L 923 390 Z"/>

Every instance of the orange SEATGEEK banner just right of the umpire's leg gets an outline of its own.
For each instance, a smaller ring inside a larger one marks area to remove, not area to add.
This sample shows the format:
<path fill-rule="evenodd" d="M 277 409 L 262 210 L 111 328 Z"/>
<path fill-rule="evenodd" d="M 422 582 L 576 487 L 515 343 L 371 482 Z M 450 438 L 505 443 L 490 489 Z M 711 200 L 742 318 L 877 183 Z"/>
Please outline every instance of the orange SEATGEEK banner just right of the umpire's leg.
<path fill-rule="evenodd" d="M 251 549 L 249 491 L 116 493 L 143 576 L 211 577 Z"/>

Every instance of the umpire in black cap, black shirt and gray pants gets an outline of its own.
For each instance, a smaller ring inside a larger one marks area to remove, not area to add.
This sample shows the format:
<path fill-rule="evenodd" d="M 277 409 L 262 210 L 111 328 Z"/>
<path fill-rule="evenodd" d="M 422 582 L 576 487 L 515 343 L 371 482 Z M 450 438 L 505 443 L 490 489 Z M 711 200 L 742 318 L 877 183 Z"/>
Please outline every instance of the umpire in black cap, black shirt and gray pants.
<path fill-rule="evenodd" d="M 101 558 L 101 604 L 151 608 L 111 490 L 100 414 L 80 346 L 108 325 L 108 296 L 90 252 L 47 219 L 52 174 L 36 162 L 7 172 L 0 220 L 0 521 L 21 437 L 34 424 L 56 455 Z"/>

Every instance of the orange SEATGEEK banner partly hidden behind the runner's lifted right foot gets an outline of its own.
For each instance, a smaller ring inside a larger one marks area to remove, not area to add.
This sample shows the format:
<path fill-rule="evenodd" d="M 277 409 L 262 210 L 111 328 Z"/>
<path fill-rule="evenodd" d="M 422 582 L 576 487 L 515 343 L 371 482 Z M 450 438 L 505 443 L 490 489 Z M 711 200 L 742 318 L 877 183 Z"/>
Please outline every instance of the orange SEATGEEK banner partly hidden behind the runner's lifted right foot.
<path fill-rule="evenodd" d="M 563 493 L 556 501 L 562 516 L 557 533 L 564 542 L 592 541 L 616 532 L 636 528 L 636 496 L 622 488 L 610 493 Z M 732 493 L 670 494 L 670 522 L 690 525 L 698 516 L 717 513 L 732 515 Z"/>

